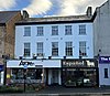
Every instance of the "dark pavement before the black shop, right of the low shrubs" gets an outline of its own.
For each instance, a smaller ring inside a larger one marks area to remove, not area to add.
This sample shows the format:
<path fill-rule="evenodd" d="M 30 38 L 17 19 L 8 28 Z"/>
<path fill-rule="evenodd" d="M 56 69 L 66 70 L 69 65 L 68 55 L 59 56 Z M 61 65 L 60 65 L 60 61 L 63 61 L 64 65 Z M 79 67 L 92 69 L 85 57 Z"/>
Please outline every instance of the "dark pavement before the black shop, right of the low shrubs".
<path fill-rule="evenodd" d="M 44 89 L 37 92 L 37 94 L 58 94 L 58 95 L 69 95 L 69 94 L 108 94 L 110 96 L 110 87 L 87 87 L 87 88 L 68 88 L 63 86 L 48 86 Z"/>

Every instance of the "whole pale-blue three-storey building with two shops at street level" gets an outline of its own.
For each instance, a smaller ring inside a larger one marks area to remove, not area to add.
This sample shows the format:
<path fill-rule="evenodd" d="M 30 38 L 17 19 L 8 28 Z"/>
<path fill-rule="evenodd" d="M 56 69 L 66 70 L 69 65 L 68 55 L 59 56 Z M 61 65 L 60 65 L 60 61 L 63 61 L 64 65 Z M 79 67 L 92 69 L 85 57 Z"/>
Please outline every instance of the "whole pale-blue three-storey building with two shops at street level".
<path fill-rule="evenodd" d="M 14 60 L 7 83 L 98 86 L 91 8 L 84 15 L 28 18 L 15 23 Z"/>

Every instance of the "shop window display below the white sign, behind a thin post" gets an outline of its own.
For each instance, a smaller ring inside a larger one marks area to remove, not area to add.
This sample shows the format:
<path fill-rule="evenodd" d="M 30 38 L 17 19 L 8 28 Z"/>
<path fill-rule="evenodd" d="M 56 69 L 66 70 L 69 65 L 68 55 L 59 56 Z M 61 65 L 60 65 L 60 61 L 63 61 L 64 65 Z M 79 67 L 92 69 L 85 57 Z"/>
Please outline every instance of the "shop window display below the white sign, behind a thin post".
<path fill-rule="evenodd" d="M 42 79 L 42 70 L 26 70 L 26 82 L 28 83 L 40 83 Z M 12 83 L 23 83 L 24 81 L 24 70 L 13 68 L 11 74 Z"/>

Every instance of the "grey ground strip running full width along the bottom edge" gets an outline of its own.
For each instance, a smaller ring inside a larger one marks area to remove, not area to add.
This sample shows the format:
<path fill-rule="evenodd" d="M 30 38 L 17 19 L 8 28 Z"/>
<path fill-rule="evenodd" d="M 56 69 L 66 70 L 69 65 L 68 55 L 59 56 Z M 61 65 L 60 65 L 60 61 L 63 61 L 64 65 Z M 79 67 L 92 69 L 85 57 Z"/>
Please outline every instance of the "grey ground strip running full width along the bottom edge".
<path fill-rule="evenodd" d="M 36 93 L 0 94 L 0 96 L 110 96 L 110 87 L 66 88 L 63 86 L 47 86 Z"/>

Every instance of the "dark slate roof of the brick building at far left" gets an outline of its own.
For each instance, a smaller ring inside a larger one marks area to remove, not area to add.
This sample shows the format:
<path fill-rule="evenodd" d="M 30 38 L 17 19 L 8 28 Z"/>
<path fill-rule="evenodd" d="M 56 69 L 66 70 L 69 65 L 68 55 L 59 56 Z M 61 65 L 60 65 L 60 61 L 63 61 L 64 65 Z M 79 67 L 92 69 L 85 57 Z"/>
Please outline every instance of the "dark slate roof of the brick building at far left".
<path fill-rule="evenodd" d="M 20 11 L 0 11 L 0 24 L 6 24 L 12 17 Z"/>

